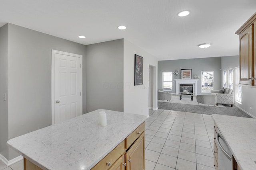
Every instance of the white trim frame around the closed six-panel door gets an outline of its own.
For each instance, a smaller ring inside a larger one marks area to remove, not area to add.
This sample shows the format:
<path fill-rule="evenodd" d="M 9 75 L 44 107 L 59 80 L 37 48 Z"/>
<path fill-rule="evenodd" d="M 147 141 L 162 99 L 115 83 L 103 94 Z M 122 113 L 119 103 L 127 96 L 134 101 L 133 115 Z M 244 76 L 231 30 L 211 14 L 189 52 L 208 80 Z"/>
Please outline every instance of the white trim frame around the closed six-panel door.
<path fill-rule="evenodd" d="M 54 113 L 54 104 L 55 104 L 55 101 L 54 101 L 54 55 L 55 54 L 62 54 L 62 55 L 70 55 L 70 56 L 73 56 L 73 57 L 79 57 L 80 58 L 80 61 L 81 61 L 81 69 L 80 69 L 80 86 L 81 86 L 81 96 L 80 96 L 80 109 L 81 109 L 81 112 L 83 112 L 83 81 L 82 81 L 82 73 L 83 73 L 83 56 L 82 55 L 78 55 L 78 54 L 73 54 L 73 53 L 67 53 L 67 52 L 64 52 L 64 51 L 57 51 L 57 50 L 53 50 L 52 49 L 52 70 L 51 70 L 51 74 L 52 74 L 52 85 L 51 85 L 51 89 L 52 89 L 52 100 L 51 100 L 51 106 L 52 106 L 52 125 L 54 125 L 54 116 L 55 116 L 55 113 Z M 82 113 L 83 114 L 83 113 Z"/>

